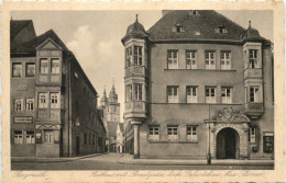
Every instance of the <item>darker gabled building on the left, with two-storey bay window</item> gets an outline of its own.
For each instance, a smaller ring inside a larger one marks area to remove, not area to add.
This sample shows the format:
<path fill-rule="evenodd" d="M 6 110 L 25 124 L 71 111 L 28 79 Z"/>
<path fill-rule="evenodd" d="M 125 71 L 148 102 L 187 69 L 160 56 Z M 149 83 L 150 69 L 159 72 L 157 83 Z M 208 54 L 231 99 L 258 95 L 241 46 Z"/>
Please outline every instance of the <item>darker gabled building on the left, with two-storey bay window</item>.
<path fill-rule="evenodd" d="M 11 156 L 74 157 L 103 152 L 97 91 L 53 30 L 11 21 Z"/>

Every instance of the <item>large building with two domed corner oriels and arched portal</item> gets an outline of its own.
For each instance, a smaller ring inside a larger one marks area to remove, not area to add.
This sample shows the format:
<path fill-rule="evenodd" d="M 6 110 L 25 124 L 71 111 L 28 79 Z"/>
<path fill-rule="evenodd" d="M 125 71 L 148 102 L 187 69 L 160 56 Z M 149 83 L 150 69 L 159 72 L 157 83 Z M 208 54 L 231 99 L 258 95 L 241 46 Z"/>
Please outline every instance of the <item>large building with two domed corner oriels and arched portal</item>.
<path fill-rule="evenodd" d="M 273 159 L 272 43 L 216 11 L 138 18 L 125 48 L 127 148 L 140 157 Z"/>

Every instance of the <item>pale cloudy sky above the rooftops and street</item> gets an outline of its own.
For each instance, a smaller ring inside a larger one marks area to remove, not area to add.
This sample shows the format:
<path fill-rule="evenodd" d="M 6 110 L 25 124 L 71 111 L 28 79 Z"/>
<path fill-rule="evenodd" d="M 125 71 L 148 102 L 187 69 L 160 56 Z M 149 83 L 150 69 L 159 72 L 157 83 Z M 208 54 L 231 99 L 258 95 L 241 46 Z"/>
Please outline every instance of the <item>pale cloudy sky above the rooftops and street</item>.
<path fill-rule="evenodd" d="M 258 30 L 261 36 L 273 41 L 272 11 L 218 11 L 228 19 L 248 28 Z M 36 35 L 54 30 L 65 45 L 75 54 L 87 77 L 98 92 L 99 100 L 106 87 L 109 94 L 112 80 L 121 103 L 120 117 L 124 110 L 124 47 L 121 38 L 135 21 L 148 30 L 161 18 L 162 11 L 13 11 L 13 20 L 33 20 Z"/>

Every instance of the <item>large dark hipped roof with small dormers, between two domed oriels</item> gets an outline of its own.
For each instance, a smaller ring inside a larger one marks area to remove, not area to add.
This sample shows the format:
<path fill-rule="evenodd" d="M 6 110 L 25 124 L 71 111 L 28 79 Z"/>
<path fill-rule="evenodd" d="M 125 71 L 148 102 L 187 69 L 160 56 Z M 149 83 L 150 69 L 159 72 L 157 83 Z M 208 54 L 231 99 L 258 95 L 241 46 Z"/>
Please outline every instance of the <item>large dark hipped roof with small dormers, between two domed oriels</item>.
<path fill-rule="evenodd" d="M 169 11 L 148 31 L 151 41 L 179 41 L 179 39 L 221 39 L 241 41 L 241 33 L 245 30 L 222 14 L 212 10 Z M 175 32 L 174 26 L 179 25 L 183 32 Z M 216 28 L 226 27 L 227 33 L 217 33 Z M 196 35 L 199 32 L 200 35 Z"/>

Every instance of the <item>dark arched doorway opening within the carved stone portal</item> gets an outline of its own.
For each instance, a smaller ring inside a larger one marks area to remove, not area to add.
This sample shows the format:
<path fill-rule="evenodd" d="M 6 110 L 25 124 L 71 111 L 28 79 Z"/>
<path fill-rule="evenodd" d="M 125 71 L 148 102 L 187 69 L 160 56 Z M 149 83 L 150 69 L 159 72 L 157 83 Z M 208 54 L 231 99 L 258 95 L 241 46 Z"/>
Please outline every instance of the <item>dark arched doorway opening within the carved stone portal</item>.
<path fill-rule="evenodd" d="M 235 129 L 227 127 L 217 135 L 217 159 L 239 159 L 240 137 Z"/>

